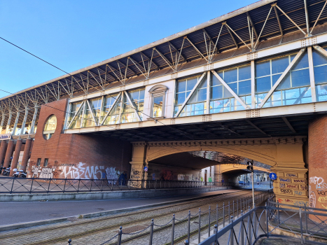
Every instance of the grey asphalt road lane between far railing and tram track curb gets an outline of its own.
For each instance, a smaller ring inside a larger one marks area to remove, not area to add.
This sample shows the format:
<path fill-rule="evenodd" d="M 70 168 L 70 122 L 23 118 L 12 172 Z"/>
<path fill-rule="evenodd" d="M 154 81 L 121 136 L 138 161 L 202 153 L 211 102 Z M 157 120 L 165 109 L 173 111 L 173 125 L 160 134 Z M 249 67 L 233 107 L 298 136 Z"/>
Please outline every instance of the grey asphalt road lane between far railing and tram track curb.
<path fill-rule="evenodd" d="M 109 211 L 128 207 L 139 207 L 147 204 L 157 204 L 175 200 L 186 200 L 193 197 L 226 193 L 238 190 L 218 190 L 215 192 L 184 195 L 176 197 L 161 197 L 154 199 L 133 200 L 85 200 L 85 201 L 53 201 L 53 202 L 0 202 L 0 225 L 42 221 L 51 218 L 63 218 L 90 214 L 99 211 Z"/>

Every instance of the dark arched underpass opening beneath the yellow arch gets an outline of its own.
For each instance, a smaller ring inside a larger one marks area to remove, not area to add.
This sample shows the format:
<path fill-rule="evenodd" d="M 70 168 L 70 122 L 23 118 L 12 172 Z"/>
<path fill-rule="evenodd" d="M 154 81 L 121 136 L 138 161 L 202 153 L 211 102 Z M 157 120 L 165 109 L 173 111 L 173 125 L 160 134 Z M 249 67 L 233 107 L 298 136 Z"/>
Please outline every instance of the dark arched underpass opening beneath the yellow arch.
<path fill-rule="evenodd" d="M 148 180 L 157 181 L 218 181 L 238 182 L 248 174 L 246 162 L 237 155 L 216 151 L 190 151 L 165 155 L 148 162 Z M 270 166 L 253 161 L 256 172 L 270 172 Z"/>

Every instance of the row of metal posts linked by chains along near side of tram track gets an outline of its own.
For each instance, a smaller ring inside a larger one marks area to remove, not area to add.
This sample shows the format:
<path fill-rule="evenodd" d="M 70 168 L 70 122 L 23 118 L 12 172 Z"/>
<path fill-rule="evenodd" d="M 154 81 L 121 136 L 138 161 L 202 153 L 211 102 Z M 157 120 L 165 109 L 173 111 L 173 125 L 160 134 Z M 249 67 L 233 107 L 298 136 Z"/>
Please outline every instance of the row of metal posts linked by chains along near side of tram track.
<path fill-rule="evenodd" d="M 267 200 L 267 197 L 272 195 L 272 190 L 266 190 L 260 193 L 256 193 L 255 195 L 255 203 L 260 204 Z M 196 214 L 191 214 L 188 211 L 188 214 L 185 218 L 178 219 L 175 215 L 172 215 L 172 218 L 167 221 L 165 224 L 158 224 L 152 219 L 148 225 L 144 225 L 142 230 L 138 230 L 136 232 L 127 232 L 129 228 L 124 229 L 120 226 L 118 230 L 118 234 L 111 237 L 110 239 L 104 241 L 101 245 L 109 244 L 109 245 L 120 245 L 125 241 L 131 241 L 132 239 L 137 239 L 139 237 L 148 236 L 147 244 L 153 244 L 153 235 L 155 232 L 160 232 L 164 229 L 167 229 L 167 232 L 170 232 L 169 240 L 163 241 L 164 238 L 160 240 L 161 244 L 177 244 L 184 239 L 190 240 L 190 237 L 197 236 L 197 239 L 200 243 L 200 234 L 201 232 L 208 232 L 209 236 L 212 233 L 212 229 L 214 227 L 221 225 L 221 227 L 229 227 L 231 220 L 228 217 L 236 216 L 241 218 L 243 211 L 250 211 L 250 206 L 252 205 L 252 196 L 244 197 L 241 199 L 233 200 L 232 202 L 228 202 L 228 204 L 223 203 L 221 207 L 216 207 L 209 209 L 207 211 L 199 211 Z M 177 230 L 177 232 L 176 232 Z M 167 234 L 165 232 L 165 234 Z M 184 235 L 181 237 L 176 237 L 176 234 L 183 233 Z M 71 239 L 69 239 L 71 242 Z"/>

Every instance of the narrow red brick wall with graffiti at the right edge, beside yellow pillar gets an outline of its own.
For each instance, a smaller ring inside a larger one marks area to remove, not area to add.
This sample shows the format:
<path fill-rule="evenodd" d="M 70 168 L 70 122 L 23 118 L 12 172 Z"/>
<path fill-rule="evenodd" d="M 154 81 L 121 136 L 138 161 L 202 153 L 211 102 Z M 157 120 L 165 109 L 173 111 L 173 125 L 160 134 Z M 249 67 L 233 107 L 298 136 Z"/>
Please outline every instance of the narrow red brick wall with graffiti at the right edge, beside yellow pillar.
<path fill-rule="evenodd" d="M 309 204 L 327 209 L 327 116 L 309 123 Z"/>

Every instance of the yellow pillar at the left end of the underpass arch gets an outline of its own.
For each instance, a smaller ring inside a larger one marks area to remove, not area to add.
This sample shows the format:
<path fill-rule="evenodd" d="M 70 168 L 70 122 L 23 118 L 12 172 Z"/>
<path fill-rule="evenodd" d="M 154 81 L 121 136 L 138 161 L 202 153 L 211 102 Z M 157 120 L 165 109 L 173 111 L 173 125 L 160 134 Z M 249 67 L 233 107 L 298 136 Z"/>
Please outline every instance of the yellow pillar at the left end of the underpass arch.
<path fill-rule="evenodd" d="M 134 187 L 141 188 L 141 182 L 148 179 L 148 174 L 144 172 L 144 167 L 148 167 L 148 162 L 146 161 L 146 153 L 148 146 L 146 142 L 138 142 L 133 144 L 133 153 L 132 153 L 132 165 L 130 171 L 130 179 L 139 180 L 140 183 L 134 183 Z M 133 185 L 133 183 L 130 183 Z"/>

